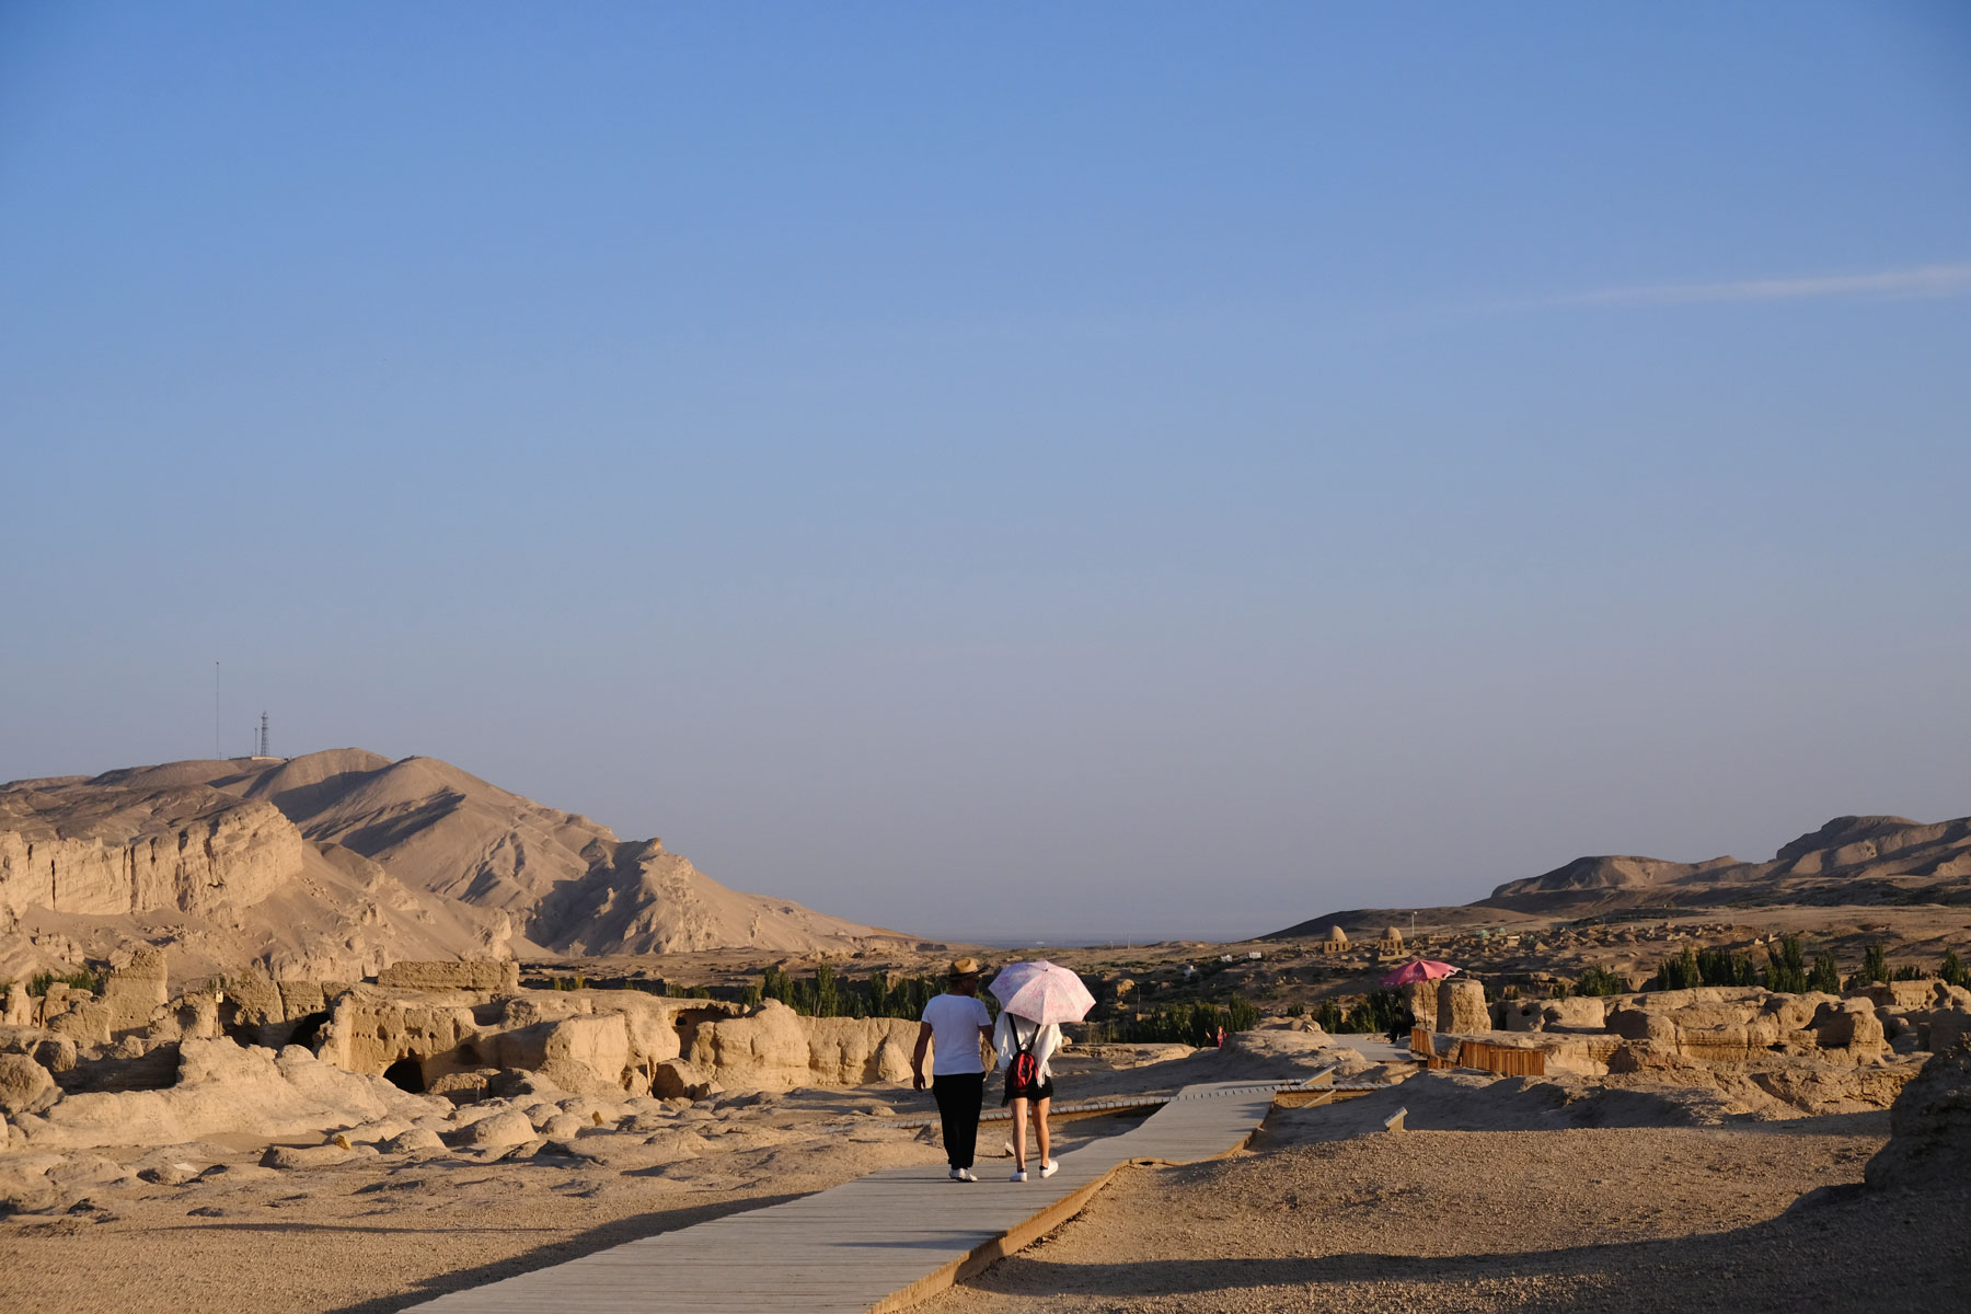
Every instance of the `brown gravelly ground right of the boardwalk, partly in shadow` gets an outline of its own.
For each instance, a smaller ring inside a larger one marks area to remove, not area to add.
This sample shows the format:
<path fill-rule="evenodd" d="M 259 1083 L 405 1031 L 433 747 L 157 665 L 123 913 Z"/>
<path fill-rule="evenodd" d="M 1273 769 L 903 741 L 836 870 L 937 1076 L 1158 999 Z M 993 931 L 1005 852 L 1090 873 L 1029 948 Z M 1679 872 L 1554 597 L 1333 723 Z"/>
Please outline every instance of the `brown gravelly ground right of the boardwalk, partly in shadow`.
<path fill-rule="evenodd" d="M 1321 1111 L 1275 1111 L 1273 1123 Z M 1175 1312 L 1961 1310 L 1971 1184 L 1867 1192 L 1888 1117 L 1407 1131 L 1135 1168 L 926 1306 Z"/>

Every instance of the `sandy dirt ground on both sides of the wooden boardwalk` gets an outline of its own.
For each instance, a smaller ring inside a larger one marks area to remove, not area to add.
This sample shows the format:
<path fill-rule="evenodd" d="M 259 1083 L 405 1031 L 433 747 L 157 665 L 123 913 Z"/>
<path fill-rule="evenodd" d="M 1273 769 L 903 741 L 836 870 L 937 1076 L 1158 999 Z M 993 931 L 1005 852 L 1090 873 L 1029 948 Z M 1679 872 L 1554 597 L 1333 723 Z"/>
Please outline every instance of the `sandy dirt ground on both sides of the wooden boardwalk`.
<path fill-rule="evenodd" d="M 1289 1040 L 1076 1060 L 1072 1093 L 1311 1062 Z M 1397 1105 L 1409 1131 L 1384 1133 Z M 0 1217 L 0 1314 L 386 1314 L 891 1164 L 940 1164 L 934 1135 L 909 1125 L 926 1113 L 928 1095 L 905 1089 L 808 1089 L 532 1154 L 321 1168 L 264 1168 L 246 1145 L 69 1154 L 49 1172 L 63 1204 Z M 1056 1145 L 1072 1154 L 1127 1125 L 1070 1121 Z M 999 1152 L 1003 1129 L 982 1131 L 982 1158 Z M 1232 1158 L 1129 1168 L 1056 1233 L 924 1308 L 1965 1308 L 1971 1184 L 1865 1192 L 1886 1137 L 1886 1111 L 1758 1121 L 1715 1091 L 1417 1074 L 1275 1109 Z M 144 1176 L 179 1162 L 197 1170 L 183 1184 Z"/>

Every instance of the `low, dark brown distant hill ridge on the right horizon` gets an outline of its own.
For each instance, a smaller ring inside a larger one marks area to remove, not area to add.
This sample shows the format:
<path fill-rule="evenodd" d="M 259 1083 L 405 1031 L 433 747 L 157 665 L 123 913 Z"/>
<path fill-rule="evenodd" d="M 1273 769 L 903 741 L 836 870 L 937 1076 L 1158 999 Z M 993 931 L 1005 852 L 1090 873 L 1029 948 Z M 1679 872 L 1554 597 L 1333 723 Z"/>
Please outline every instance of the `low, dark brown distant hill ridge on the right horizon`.
<path fill-rule="evenodd" d="M 1437 926 L 1593 916 L 1618 908 L 1721 904 L 1971 904 L 1971 818 L 1912 821 L 1843 816 L 1780 845 L 1764 863 L 1713 857 L 1677 863 L 1658 857 L 1597 855 L 1522 881 L 1461 906 L 1417 908 Z M 1263 936 L 1303 938 L 1340 926 L 1350 936 L 1403 924 L 1411 910 L 1348 908 Z"/>

